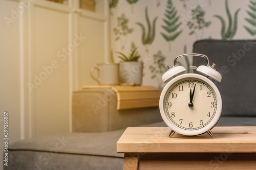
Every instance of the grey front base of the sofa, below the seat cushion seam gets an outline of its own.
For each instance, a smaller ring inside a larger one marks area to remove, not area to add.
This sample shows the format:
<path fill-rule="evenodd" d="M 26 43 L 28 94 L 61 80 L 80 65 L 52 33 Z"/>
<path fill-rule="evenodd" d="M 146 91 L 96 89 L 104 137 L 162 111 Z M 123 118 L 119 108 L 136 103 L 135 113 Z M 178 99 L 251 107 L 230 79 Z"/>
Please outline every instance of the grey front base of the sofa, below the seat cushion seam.
<path fill-rule="evenodd" d="M 93 170 L 122 169 L 123 158 L 85 154 L 49 153 L 39 151 L 9 151 L 8 166 L 4 170 Z"/>

